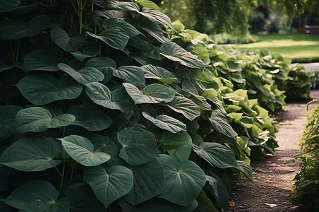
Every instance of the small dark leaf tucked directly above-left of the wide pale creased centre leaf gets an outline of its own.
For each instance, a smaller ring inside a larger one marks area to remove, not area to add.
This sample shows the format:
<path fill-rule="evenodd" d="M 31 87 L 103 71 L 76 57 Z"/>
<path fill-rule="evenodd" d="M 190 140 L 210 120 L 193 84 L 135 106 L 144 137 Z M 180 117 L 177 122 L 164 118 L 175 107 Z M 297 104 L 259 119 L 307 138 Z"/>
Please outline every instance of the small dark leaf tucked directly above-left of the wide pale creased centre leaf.
<path fill-rule="evenodd" d="M 132 83 L 139 89 L 145 88 L 145 76 L 138 66 L 121 66 L 113 71 L 113 76 L 123 79 L 125 83 Z"/>

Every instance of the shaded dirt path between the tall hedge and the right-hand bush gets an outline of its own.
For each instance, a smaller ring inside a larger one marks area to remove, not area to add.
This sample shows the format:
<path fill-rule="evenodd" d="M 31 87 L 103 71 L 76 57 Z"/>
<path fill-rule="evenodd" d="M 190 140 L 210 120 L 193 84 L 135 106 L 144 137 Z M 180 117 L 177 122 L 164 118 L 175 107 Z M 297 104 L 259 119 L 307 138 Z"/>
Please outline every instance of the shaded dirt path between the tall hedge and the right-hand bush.
<path fill-rule="evenodd" d="M 319 100 L 319 90 L 311 90 L 310 97 Z M 230 195 L 230 205 L 235 206 L 230 206 L 229 211 L 315 211 L 309 206 L 291 204 L 287 199 L 292 193 L 293 177 L 298 172 L 300 161 L 286 162 L 298 153 L 303 153 L 298 147 L 298 138 L 307 123 L 307 114 L 301 113 L 306 110 L 308 101 L 289 102 L 284 106 L 284 113 L 276 117 L 279 148 L 276 148 L 274 155 L 264 155 L 261 160 L 252 161 L 254 184 L 248 180 L 242 180 L 238 184 Z"/>

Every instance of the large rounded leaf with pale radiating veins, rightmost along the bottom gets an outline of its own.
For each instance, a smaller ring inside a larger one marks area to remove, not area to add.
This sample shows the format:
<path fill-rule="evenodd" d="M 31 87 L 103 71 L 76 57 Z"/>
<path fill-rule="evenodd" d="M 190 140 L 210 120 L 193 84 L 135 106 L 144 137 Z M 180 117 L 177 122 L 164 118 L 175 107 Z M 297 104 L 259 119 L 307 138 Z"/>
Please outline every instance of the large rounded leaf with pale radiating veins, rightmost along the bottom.
<path fill-rule="evenodd" d="M 206 175 L 191 160 L 178 162 L 170 155 L 160 155 L 166 184 L 159 197 L 167 199 L 174 204 L 186 206 L 198 196 L 206 182 Z"/>

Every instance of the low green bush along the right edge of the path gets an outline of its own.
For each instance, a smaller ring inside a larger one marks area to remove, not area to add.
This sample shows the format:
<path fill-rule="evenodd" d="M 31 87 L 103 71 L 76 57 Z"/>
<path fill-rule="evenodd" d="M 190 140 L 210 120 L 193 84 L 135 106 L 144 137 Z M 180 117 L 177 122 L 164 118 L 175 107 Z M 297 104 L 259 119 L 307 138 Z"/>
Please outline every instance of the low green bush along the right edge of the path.
<path fill-rule="evenodd" d="M 319 209 L 319 105 L 311 110 L 308 123 L 301 137 L 301 147 L 306 153 L 296 155 L 300 158 L 300 170 L 296 174 L 293 184 L 293 194 L 289 197 L 292 201 L 304 203 Z M 294 161 L 294 160 L 293 160 Z"/>

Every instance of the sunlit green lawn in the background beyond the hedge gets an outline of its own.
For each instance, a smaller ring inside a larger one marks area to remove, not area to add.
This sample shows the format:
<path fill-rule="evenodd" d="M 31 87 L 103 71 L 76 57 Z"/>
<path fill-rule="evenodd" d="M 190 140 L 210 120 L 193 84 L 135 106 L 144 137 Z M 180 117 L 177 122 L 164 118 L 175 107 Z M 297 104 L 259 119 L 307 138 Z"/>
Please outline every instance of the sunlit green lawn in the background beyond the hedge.
<path fill-rule="evenodd" d="M 268 49 L 295 62 L 319 61 L 319 35 L 259 35 L 259 42 L 228 45 L 240 49 Z"/>

